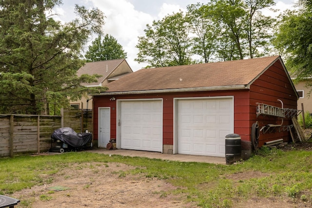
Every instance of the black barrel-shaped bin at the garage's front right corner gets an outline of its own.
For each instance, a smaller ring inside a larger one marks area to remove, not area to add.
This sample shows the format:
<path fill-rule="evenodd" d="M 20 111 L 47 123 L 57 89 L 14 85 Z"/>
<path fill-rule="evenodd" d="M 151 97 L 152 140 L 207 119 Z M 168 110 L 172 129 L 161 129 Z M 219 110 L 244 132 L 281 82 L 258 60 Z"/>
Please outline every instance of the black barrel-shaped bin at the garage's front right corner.
<path fill-rule="evenodd" d="M 241 137 L 236 133 L 225 136 L 225 161 L 227 165 L 233 164 L 242 158 Z"/>

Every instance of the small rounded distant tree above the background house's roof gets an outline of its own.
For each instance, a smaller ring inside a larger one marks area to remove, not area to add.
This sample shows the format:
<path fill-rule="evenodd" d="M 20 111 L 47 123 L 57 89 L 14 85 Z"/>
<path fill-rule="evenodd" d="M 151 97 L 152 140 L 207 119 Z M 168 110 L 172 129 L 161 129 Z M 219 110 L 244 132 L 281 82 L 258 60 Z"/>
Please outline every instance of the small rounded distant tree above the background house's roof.
<path fill-rule="evenodd" d="M 117 43 L 117 39 L 106 34 L 101 42 L 101 36 L 98 36 L 89 46 L 89 50 L 85 55 L 87 62 L 113 60 L 119 58 L 126 58 L 127 53 L 124 52 L 122 46 Z"/>

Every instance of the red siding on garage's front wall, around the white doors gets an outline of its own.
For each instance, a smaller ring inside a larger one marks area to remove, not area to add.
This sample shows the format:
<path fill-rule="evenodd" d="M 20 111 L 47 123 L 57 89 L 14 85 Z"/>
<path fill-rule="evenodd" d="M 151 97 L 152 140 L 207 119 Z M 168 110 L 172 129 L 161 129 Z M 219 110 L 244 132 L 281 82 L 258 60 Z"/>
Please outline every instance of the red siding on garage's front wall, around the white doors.
<path fill-rule="evenodd" d="M 248 91 L 211 91 L 196 93 L 177 93 L 177 94 L 151 94 L 151 95 L 115 95 L 116 99 L 149 99 L 163 98 L 163 144 L 173 145 L 174 138 L 174 98 L 177 97 L 208 97 L 208 96 L 234 96 L 234 132 L 240 132 L 242 139 L 249 140 L 248 125 Z M 94 139 L 98 139 L 98 108 L 111 108 L 111 137 L 116 138 L 116 101 L 110 101 L 112 95 L 94 96 Z M 236 110 L 237 109 L 237 110 Z M 235 125 L 236 120 L 239 121 Z M 242 121 L 242 122 L 241 122 Z"/>

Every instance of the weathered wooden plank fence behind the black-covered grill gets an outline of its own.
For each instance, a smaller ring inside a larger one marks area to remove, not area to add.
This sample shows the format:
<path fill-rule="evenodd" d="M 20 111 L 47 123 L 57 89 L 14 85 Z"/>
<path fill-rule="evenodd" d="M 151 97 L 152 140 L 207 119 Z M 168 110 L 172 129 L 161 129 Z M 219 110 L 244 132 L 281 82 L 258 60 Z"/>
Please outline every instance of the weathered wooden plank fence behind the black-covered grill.
<path fill-rule="evenodd" d="M 92 111 L 62 109 L 61 115 L 0 114 L 0 157 L 48 151 L 51 134 L 61 127 L 92 130 Z"/>

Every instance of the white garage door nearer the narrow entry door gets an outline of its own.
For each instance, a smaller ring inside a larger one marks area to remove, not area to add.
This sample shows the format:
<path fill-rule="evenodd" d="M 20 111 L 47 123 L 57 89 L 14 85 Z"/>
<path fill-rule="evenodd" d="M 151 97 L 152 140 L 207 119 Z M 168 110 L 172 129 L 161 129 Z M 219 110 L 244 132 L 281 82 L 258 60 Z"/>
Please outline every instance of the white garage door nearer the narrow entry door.
<path fill-rule="evenodd" d="M 162 152 L 162 101 L 121 101 L 121 149 Z"/>

